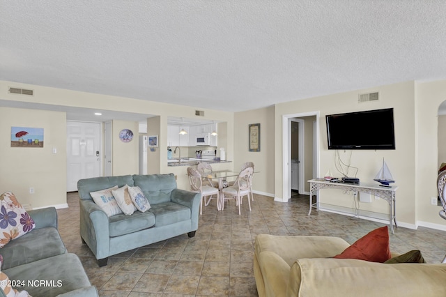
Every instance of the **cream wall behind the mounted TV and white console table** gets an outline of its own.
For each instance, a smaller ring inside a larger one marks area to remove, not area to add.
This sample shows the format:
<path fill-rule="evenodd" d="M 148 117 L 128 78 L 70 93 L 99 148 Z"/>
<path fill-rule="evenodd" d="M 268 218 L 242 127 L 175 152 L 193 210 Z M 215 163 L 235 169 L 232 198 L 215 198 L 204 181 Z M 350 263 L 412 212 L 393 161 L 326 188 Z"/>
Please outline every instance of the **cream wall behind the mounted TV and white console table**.
<path fill-rule="evenodd" d="M 359 93 L 379 91 L 378 102 L 358 103 Z M 373 182 L 373 178 L 380 169 L 383 158 L 389 165 L 394 178 L 399 185 L 397 191 L 397 219 L 413 226 L 415 225 L 415 86 L 414 82 L 404 82 L 388 86 L 378 86 L 346 93 L 320 96 L 307 100 L 297 100 L 277 104 L 275 106 L 275 194 L 282 198 L 282 116 L 305 112 L 319 112 L 319 143 L 320 165 L 319 172 L 332 174 L 337 172 L 334 167 L 334 151 L 328 150 L 325 115 L 341 112 L 357 112 L 367 109 L 381 109 L 393 107 L 396 150 L 390 151 L 341 151 L 341 158 L 348 160 L 351 154 L 351 165 L 359 167 L 357 177 L 361 181 Z M 352 197 L 334 190 L 322 190 L 321 201 L 350 207 Z M 373 201 L 372 204 L 362 206 L 372 211 L 386 211 L 385 201 Z"/>

